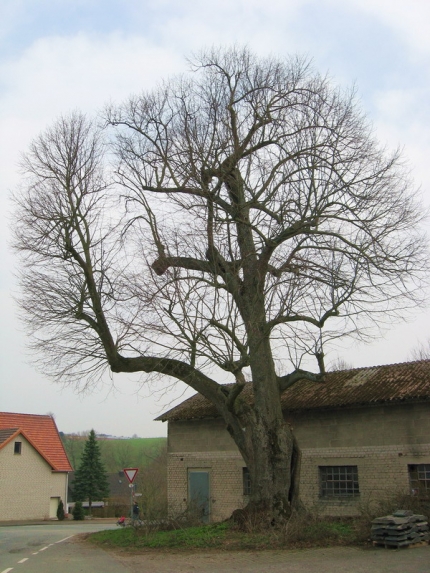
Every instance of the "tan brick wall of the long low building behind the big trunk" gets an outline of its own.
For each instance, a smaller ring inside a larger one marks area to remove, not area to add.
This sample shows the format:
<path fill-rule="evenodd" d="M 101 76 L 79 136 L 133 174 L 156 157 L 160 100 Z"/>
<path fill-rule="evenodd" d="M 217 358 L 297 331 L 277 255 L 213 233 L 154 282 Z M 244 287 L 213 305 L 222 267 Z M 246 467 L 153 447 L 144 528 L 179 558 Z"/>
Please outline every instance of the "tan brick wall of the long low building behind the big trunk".
<path fill-rule="evenodd" d="M 384 496 L 409 492 L 408 464 L 430 463 L 430 404 L 302 412 L 287 416 L 302 450 L 301 498 L 329 515 L 353 515 Z M 246 504 L 244 462 L 224 422 L 169 422 L 168 491 L 171 513 L 188 503 L 189 469 L 210 475 L 211 519 Z M 322 500 L 319 466 L 358 468 L 360 495 Z"/>

